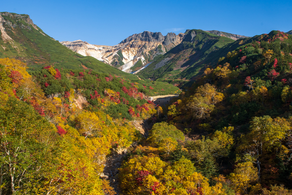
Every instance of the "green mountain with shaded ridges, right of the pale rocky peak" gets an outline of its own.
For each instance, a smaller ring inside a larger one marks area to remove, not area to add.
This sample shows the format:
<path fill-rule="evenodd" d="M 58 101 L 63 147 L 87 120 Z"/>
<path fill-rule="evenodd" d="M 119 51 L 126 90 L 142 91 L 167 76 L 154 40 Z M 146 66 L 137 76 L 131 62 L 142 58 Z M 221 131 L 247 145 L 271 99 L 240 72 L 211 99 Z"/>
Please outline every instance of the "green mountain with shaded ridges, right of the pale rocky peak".
<path fill-rule="evenodd" d="M 233 39 L 203 30 L 189 30 L 180 44 L 137 74 L 152 80 L 190 80 L 199 74 L 201 68 L 215 65 L 222 53 L 230 50 L 225 46 L 233 42 Z"/>

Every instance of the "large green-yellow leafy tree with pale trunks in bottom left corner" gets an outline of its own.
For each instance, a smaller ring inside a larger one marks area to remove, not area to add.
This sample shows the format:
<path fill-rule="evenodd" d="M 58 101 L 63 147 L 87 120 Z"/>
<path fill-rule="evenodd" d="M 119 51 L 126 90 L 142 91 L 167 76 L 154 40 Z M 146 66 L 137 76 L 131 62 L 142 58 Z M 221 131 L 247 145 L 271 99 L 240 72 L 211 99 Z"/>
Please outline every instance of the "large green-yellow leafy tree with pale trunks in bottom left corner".
<path fill-rule="evenodd" d="M 56 128 L 32 106 L 13 97 L 0 106 L 1 190 L 41 191 L 41 179 L 48 171 L 43 166 L 52 155 L 54 144 L 58 144 L 56 139 L 52 142 Z"/>

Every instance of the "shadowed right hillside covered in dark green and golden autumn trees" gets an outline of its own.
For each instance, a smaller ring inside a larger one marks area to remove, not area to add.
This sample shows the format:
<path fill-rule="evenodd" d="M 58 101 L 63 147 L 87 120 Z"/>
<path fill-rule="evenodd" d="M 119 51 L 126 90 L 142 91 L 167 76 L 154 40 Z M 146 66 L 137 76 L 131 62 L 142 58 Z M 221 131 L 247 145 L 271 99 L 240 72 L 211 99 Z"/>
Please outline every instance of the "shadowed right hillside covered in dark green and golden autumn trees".
<path fill-rule="evenodd" d="M 161 194 L 292 193 L 292 36 L 271 31 L 225 47 L 128 155 L 124 193 L 143 194 L 147 182 Z"/>

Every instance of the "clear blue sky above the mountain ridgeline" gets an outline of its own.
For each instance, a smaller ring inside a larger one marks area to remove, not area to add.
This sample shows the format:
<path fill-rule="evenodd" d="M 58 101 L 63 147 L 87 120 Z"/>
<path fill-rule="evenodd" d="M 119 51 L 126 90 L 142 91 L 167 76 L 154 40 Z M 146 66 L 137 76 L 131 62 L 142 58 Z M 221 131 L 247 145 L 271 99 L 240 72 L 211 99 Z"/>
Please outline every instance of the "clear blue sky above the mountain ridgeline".
<path fill-rule="evenodd" d="M 254 36 L 292 30 L 291 1 L 2 1 L 0 12 L 28 14 L 46 34 L 59 41 L 81 39 L 116 45 L 145 30 L 185 32 L 219 30 Z"/>

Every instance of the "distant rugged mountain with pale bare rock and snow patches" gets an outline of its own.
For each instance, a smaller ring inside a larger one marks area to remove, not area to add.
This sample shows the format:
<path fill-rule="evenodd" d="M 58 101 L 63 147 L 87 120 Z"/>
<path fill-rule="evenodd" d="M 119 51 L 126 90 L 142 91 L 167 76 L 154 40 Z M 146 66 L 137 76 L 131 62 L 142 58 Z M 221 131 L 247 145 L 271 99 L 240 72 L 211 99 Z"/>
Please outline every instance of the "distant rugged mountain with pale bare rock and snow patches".
<path fill-rule="evenodd" d="M 114 46 L 93 45 L 81 40 L 61 43 L 83 56 L 92 56 L 130 73 L 156 60 L 180 44 L 184 37 L 184 33 L 176 35 L 171 32 L 163 36 L 161 32 L 144 31 L 133 34 Z"/>

